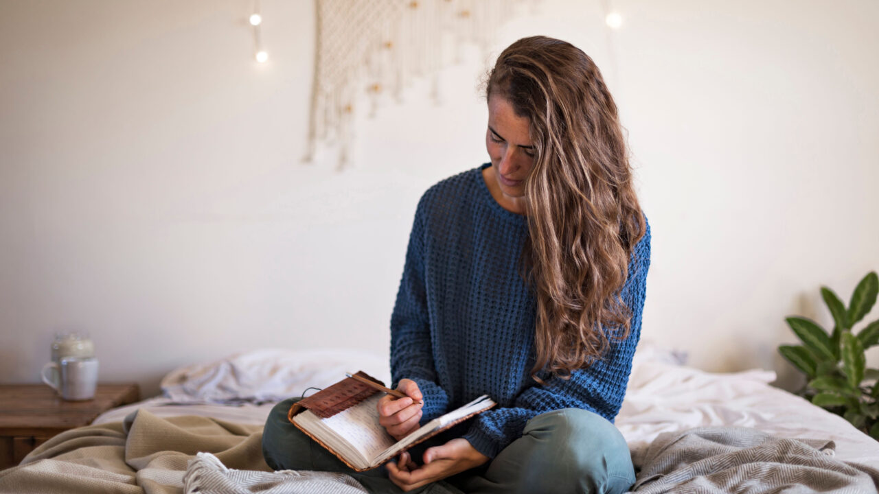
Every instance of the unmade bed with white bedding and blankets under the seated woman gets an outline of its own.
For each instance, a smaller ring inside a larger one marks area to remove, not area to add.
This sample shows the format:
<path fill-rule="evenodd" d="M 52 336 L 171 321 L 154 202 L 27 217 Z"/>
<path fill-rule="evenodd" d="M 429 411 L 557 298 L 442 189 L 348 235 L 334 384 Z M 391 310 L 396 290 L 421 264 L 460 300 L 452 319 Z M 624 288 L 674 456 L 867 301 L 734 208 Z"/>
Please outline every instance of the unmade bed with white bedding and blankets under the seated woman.
<path fill-rule="evenodd" d="M 351 350 L 262 350 L 177 369 L 163 396 L 109 410 L 0 472 L 0 492 L 364 492 L 349 476 L 271 472 L 260 449 L 274 403 L 351 370 L 389 381 L 386 360 Z M 639 470 L 634 490 L 876 492 L 879 442 L 773 388 L 774 377 L 707 373 L 642 341 L 615 422 Z"/>

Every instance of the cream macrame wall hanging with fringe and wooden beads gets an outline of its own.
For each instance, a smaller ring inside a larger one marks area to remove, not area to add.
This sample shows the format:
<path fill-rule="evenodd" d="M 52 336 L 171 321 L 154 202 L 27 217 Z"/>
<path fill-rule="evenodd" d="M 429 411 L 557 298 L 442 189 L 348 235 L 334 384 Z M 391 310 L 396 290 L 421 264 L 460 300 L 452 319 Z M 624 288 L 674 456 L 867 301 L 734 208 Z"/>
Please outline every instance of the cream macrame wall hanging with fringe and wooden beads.
<path fill-rule="evenodd" d="M 387 99 L 400 101 L 415 77 L 431 77 L 429 97 L 441 102 L 439 69 L 461 62 L 468 43 L 479 47 L 488 63 L 498 27 L 516 13 L 535 13 L 539 2 L 316 0 L 306 161 L 314 159 L 318 145 L 327 145 L 338 149 L 339 168 L 350 164 L 352 124 L 361 106 L 367 101 L 367 114 L 373 116 Z"/>

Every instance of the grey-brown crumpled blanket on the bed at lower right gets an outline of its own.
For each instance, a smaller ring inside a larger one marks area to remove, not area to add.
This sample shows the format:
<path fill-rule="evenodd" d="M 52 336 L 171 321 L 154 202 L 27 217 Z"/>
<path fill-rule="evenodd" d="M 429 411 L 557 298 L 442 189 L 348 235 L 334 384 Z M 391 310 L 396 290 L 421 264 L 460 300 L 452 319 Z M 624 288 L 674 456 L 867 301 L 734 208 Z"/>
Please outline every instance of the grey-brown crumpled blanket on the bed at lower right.
<path fill-rule="evenodd" d="M 786 494 L 877 492 L 879 471 L 833 458 L 832 440 L 791 440 L 744 427 L 704 427 L 659 434 L 632 490 Z"/>

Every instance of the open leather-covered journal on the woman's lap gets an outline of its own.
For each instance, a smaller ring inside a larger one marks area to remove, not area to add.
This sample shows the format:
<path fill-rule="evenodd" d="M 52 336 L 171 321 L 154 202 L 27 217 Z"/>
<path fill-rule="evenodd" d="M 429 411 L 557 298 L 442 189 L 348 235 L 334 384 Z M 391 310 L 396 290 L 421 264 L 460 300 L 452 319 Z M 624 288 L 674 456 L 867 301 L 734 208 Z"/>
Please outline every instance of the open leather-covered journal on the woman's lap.
<path fill-rule="evenodd" d="M 363 372 L 357 375 L 381 383 Z M 346 465 L 362 472 L 495 405 L 489 396 L 479 396 L 397 441 L 379 424 L 376 405 L 381 396 L 384 393 L 378 389 L 349 377 L 294 403 L 288 418 Z"/>

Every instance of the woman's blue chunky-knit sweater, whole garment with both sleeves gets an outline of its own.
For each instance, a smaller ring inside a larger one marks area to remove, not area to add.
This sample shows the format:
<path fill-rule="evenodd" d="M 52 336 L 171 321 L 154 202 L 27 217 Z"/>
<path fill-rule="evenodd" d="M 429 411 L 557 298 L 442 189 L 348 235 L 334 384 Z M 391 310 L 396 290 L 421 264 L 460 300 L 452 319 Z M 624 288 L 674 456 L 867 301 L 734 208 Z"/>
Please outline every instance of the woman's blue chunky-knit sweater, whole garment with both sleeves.
<path fill-rule="evenodd" d="M 641 333 L 650 225 L 621 291 L 633 314 L 629 337 L 610 338 L 606 358 L 569 380 L 547 376 L 539 385 L 529 374 L 536 300 L 519 274 L 527 218 L 491 197 L 487 166 L 442 180 L 418 203 L 391 316 L 391 374 L 394 387 L 403 378 L 418 382 L 422 424 L 491 396 L 498 405 L 470 421 L 463 437 L 494 458 L 549 410 L 590 410 L 613 422 Z"/>

